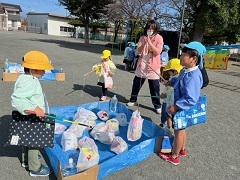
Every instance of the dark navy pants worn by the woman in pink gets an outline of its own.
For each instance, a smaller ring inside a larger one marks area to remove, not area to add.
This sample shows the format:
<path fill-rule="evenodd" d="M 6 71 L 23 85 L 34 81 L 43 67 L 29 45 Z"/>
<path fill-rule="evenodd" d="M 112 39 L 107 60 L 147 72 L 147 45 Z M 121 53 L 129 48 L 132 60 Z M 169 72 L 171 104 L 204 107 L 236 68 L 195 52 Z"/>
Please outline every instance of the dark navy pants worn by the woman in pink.
<path fill-rule="evenodd" d="M 144 84 L 145 80 L 146 80 L 145 78 L 140 78 L 137 76 L 134 77 L 131 95 L 135 95 L 135 96 L 131 96 L 130 102 L 137 101 L 137 95 L 138 95 L 142 85 Z M 158 96 L 158 98 L 151 97 L 154 108 L 155 109 L 161 108 L 161 103 L 160 103 L 160 99 L 159 99 L 159 96 L 160 96 L 159 79 L 154 79 L 154 80 L 148 79 L 148 85 L 149 85 L 151 96 Z"/>

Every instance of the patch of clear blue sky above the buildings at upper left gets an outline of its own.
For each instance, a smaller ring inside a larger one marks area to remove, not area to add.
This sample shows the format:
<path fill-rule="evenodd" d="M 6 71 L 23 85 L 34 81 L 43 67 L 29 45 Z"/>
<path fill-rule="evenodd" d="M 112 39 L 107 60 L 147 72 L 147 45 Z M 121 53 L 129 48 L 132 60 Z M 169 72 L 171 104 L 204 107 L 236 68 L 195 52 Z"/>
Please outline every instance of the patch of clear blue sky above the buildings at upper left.
<path fill-rule="evenodd" d="M 19 5 L 22 8 L 22 18 L 25 18 L 28 12 L 51 13 L 64 16 L 67 14 L 64 6 L 58 5 L 58 0 L 0 0 L 0 2 Z"/>

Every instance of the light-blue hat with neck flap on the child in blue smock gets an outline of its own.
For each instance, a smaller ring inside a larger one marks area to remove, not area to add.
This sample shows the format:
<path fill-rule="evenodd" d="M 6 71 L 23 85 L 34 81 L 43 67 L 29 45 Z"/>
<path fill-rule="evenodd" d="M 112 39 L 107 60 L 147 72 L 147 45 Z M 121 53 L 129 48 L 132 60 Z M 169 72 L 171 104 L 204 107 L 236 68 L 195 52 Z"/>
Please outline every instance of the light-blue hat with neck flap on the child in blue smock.
<path fill-rule="evenodd" d="M 203 68 L 203 55 L 207 51 L 205 46 L 202 45 L 202 43 L 200 43 L 200 42 L 193 41 L 193 42 L 186 44 L 185 47 L 187 47 L 189 49 L 194 49 L 199 53 L 199 55 L 200 55 L 199 67 L 200 67 L 200 69 L 202 69 Z"/>

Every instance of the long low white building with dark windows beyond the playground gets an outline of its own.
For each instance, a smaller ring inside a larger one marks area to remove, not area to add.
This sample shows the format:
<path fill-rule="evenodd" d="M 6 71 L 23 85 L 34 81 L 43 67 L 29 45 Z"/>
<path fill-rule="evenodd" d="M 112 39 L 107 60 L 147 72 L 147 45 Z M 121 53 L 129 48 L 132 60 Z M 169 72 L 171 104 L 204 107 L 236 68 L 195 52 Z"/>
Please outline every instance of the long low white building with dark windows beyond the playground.
<path fill-rule="evenodd" d="M 71 18 L 50 13 L 27 14 L 28 32 L 35 32 L 56 36 L 71 36 L 74 27 L 69 23 Z"/>

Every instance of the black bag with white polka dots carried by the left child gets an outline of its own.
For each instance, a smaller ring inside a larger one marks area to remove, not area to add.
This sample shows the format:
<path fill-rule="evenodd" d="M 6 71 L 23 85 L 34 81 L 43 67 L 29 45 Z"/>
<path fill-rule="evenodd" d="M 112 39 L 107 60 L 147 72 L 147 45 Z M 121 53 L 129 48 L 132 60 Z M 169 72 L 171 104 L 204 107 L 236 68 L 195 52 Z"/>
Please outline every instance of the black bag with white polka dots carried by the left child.
<path fill-rule="evenodd" d="M 10 135 L 5 145 L 34 148 L 53 147 L 55 119 L 12 112 Z"/>

